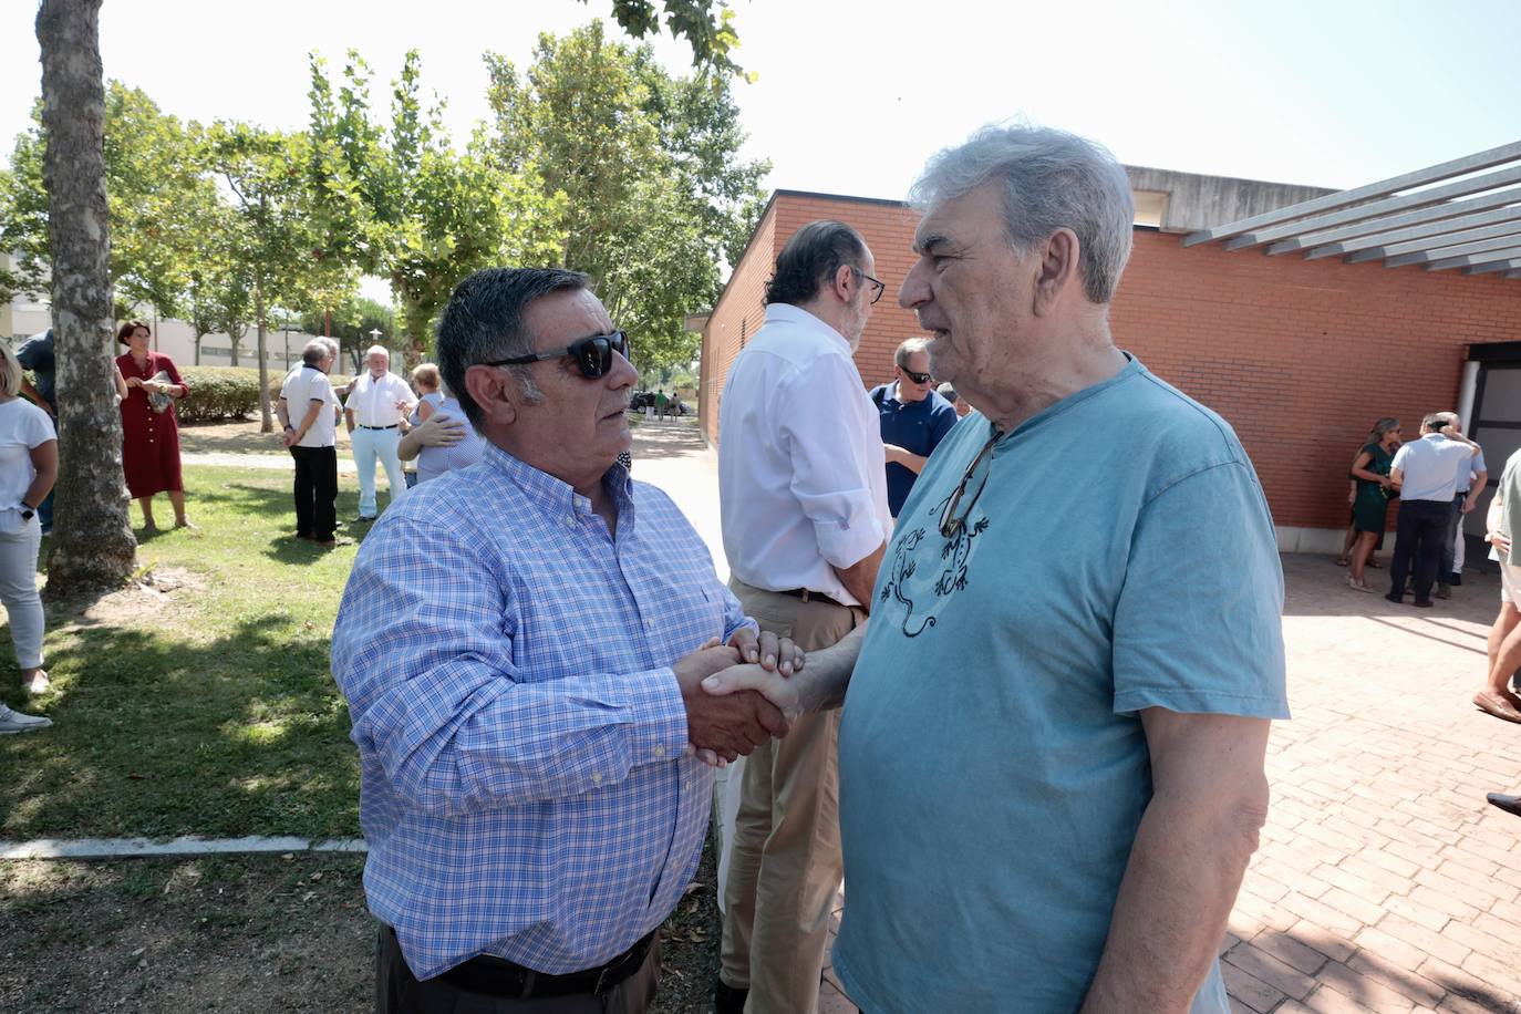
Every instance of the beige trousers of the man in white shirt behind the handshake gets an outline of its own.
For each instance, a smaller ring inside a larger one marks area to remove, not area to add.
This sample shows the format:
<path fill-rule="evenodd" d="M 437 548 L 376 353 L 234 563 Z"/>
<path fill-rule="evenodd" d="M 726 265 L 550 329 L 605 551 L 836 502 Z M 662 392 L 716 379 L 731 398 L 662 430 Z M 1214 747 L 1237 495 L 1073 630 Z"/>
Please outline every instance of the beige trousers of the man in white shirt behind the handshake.
<path fill-rule="evenodd" d="M 760 629 L 818 651 L 861 610 L 794 599 L 732 579 Z M 748 987 L 747 1014 L 814 1014 L 840 889 L 840 711 L 805 715 L 745 759 L 724 885 L 721 978 Z"/>

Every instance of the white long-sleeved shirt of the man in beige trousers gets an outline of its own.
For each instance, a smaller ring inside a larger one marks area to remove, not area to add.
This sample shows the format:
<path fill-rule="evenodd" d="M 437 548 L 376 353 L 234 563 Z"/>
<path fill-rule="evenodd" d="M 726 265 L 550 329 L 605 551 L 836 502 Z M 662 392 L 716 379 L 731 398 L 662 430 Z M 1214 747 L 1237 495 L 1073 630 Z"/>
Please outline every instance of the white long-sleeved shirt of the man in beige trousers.
<path fill-rule="evenodd" d="M 881 546 L 891 520 L 876 407 L 844 336 L 794 306 L 767 307 L 729 371 L 718 438 L 730 572 L 858 605 L 834 569 Z"/>

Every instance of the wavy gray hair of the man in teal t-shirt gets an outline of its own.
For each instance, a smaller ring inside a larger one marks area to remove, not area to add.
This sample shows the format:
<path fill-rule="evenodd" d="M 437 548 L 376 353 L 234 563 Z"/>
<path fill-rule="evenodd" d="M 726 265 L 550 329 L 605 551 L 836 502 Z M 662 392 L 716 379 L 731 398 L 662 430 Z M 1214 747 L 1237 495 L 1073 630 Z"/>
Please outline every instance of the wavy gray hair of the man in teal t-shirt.
<path fill-rule="evenodd" d="M 986 126 L 931 158 L 908 199 L 926 210 L 989 179 L 1001 187 L 1015 249 L 1028 252 L 1057 230 L 1072 230 L 1083 293 L 1100 304 L 1113 298 L 1130 257 L 1135 201 L 1109 149 L 1048 126 Z"/>

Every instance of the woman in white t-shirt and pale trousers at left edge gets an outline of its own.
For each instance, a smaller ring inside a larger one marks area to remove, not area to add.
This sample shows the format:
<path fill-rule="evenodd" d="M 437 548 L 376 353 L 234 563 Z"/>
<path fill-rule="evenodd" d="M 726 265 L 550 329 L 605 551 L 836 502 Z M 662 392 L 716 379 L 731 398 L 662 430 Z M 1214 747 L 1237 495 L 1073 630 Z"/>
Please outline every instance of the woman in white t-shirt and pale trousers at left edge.
<path fill-rule="evenodd" d="M 0 602 L 27 693 L 49 689 L 43 670 L 43 600 L 37 594 L 37 553 L 43 523 L 37 509 L 58 480 L 58 436 L 47 412 L 21 394 L 21 363 L 0 342 Z M 52 725 L 0 704 L 0 734 Z"/>

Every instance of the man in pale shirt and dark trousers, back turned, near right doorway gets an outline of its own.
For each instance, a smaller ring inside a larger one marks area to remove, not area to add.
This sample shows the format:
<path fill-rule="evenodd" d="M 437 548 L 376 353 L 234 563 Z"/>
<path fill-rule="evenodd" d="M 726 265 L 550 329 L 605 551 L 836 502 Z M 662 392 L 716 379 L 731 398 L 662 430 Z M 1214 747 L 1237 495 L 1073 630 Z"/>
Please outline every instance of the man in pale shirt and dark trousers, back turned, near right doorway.
<path fill-rule="evenodd" d="M 1453 518 L 1457 476 L 1472 465 L 1478 450 L 1478 444 L 1463 436 L 1456 423 L 1457 417 L 1451 412 L 1425 417 L 1421 439 L 1401 447 L 1390 467 L 1389 477 L 1399 490 L 1395 558 L 1389 564 L 1390 590 L 1384 596 L 1390 602 L 1404 602 L 1405 575 L 1413 562 L 1416 597 L 1411 605 L 1431 607 L 1431 584 Z"/>

